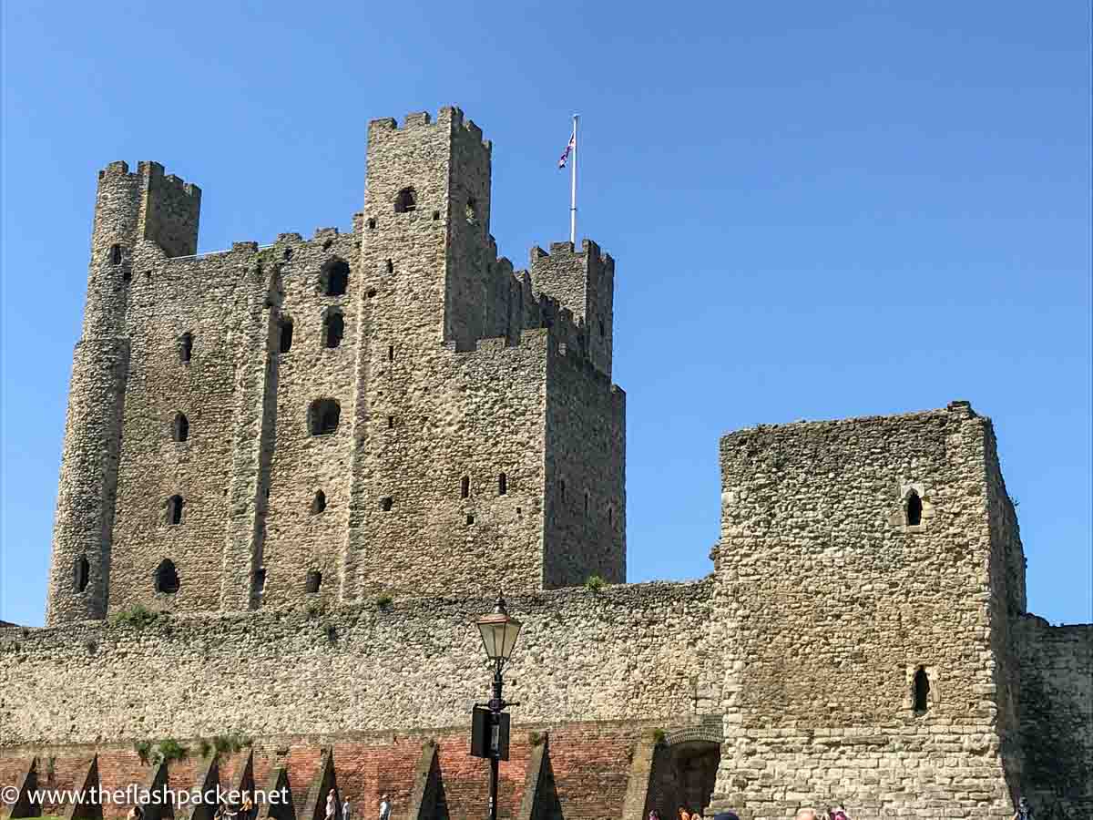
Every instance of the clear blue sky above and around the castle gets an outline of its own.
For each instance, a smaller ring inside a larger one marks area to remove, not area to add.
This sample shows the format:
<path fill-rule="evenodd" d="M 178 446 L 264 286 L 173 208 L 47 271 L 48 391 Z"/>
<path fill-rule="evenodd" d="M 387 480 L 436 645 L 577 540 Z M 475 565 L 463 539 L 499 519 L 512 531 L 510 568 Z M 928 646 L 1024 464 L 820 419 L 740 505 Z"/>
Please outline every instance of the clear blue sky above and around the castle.
<path fill-rule="evenodd" d="M 618 261 L 630 579 L 709 571 L 718 436 L 969 399 L 1030 607 L 1091 620 L 1090 7 L 4 4 L 0 618 L 40 623 L 95 174 L 203 189 L 201 249 L 351 227 L 368 119 L 457 104 L 518 267 Z"/>

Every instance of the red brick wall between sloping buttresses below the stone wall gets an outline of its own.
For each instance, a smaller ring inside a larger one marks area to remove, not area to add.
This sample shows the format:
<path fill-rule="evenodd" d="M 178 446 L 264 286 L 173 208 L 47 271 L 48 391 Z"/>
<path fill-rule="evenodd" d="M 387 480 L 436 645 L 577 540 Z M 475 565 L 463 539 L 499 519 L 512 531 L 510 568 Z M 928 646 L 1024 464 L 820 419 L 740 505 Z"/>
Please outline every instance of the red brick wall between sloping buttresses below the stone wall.
<path fill-rule="evenodd" d="M 501 764 L 498 813 L 515 820 L 524 797 L 527 768 L 531 754 L 529 730 L 513 729 L 510 759 Z M 622 811 L 630 773 L 631 753 L 643 725 L 636 723 L 588 723 L 542 727 L 549 730 L 549 755 L 557 796 L 566 820 L 614 820 Z M 380 795 L 391 797 L 396 820 L 403 820 L 410 792 L 427 738 L 437 741 L 437 759 L 443 793 L 451 820 L 481 818 L 489 796 L 489 764 L 470 757 L 467 729 L 414 733 L 411 735 L 353 735 L 332 738 L 291 738 L 259 740 L 254 746 L 254 774 L 258 788 L 265 788 L 270 773 L 284 766 L 289 773 L 297 820 L 319 772 L 322 750 L 333 749 L 334 770 L 342 799 L 353 803 L 354 820 L 375 820 Z M 204 771 L 208 760 L 198 755 L 196 741 L 183 741 L 191 757 L 169 766 L 172 788 L 190 789 Z M 95 749 L 69 747 L 38 750 L 39 786 L 75 788 L 82 783 Z M 101 785 L 104 789 L 145 786 L 154 769 L 142 764 L 131 747 L 108 746 L 97 749 Z M 250 750 L 222 755 L 220 783 L 234 787 Z M 19 781 L 34 750 L 0 750 L 0 785 Z M 54 775 L 45 775 L 46 760 L 56 755 Z M 57 810 L 57 807 L 51 807 Z M 128 806 L 104 806 L 104 817 L 121 817 Z M 58 813 L 61 813 L 58 810 Z M 180 812 L 176 811 L 176 816 Z M 188 813 L 188 811 L 187 811 Z"/>

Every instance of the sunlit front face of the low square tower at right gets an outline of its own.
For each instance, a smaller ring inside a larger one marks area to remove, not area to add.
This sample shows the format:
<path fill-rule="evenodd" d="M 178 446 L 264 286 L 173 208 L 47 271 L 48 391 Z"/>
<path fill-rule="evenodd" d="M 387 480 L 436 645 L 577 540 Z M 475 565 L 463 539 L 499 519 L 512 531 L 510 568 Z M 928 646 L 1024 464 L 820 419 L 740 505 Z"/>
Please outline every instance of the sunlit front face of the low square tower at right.
<path fill-rule="evenodd" d="M 838 801 L 866 817 L 1012 815 L 991 645 L 990 441 L 966 402 L 722 438 L 727 742 L 715 803 L 755 818 Z"/>

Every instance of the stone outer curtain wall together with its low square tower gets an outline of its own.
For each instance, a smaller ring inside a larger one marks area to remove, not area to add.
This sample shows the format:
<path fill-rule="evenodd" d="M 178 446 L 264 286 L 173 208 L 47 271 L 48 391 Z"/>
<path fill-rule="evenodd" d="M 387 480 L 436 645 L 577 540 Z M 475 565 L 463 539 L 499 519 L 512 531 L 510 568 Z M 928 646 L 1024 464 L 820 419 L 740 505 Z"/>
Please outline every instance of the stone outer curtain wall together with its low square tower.
<path fill-rule="evenodd" d="M 634 820 L 683 794 L 752 820 L 828 803 L 1002 818 L 1020 795 L 1044 817 L 1085 810 L 1093 630 L 1024 612 L 989 420 L 953 402 L 740 431 L 722 441 L 722 480 L 710 578 L 512 598 L 516 736 L 549 733 L 551 760 L 625 783 L 614 811 Z M 400 733 L 450 755 L 489 677 L 473 620 L 490 606 L 396 597 L 9 629 L 0 761 L 106 761 L 232 730 L 266 766 L 301 742 L 342 758 L 388 745 L 376 753 L 409 765 Z M 522 753 L 519 771 L 537 754 Z M 563 813 L 607 816 L 581 803 L 587 781 L 557 777 Z"/>

